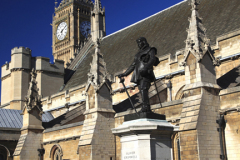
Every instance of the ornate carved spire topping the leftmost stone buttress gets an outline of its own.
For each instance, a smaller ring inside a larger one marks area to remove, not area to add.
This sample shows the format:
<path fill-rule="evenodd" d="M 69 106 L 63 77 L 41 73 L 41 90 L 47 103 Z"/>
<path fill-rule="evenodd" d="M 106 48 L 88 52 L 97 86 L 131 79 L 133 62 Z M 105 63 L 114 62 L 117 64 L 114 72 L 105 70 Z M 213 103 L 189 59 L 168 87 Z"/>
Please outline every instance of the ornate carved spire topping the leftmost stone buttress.
<path fill-rule="evenodd" d="M 36 71 L 32 69 L 31 81 L 28 89 L 28 94 L 25 98 L 24 109 L 27 109 L 27 111 L 30 112 L 34 107 L 37 107 L 40 110 L 40 113 L 42 113 L 41 96 L 38 94 L 36 76 Z"/>

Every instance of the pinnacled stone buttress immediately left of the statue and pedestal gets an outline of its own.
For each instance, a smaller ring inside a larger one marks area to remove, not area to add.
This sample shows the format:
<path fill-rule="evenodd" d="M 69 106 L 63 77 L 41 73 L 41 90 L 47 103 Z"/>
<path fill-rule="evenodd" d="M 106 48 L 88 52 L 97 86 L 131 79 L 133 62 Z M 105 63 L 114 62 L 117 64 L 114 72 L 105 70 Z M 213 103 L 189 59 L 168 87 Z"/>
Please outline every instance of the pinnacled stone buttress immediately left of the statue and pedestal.
<path fill-rule="evenodd" d="M 112 109 L 111 85 L 106 64 L 99 45 L 95 45 L 85 90 L 85 120 L 78 144 L 80 160 L 111 160 L 115 157 L 114 135 L 111 132 L 115 112 Z"/>

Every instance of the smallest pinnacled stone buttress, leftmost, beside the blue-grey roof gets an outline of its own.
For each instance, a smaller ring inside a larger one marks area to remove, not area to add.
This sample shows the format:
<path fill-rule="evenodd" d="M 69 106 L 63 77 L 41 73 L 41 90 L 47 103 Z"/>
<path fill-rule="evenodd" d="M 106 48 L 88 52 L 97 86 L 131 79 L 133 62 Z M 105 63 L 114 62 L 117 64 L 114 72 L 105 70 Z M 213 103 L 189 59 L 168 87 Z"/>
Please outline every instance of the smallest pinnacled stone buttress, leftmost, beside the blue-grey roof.
<path fill-rule="evenodd" d="M 14 152 L 14 160 L 39 159 L 38 149 L 41 149 L 42 132 L 42 104 L 38 94 L 36 71 L 31 73 L 31 82 L 25 105 L 23 108 L 23 126 L 21 136 Z"/>

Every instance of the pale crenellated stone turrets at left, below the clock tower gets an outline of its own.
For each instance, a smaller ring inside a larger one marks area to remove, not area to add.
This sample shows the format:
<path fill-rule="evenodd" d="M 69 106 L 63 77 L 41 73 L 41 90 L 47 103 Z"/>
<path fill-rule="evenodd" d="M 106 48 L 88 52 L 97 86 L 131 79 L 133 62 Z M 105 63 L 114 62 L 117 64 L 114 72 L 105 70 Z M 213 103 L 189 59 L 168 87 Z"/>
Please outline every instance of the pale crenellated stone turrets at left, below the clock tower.
<path fill-rule="evenodd" d="M 2 66 L 2 107 L 18 110 L 23 108 L 23 100 L 27 95 L 32 69 L 36 69 L 38 72 L 37 81 L 40 94 L 49 96 L 59 91 L 64 82 L 63 65 L 63 61 L 59 60 L 51 64 L 48 58 L 34 58 L 29 48 L 13 48 L 11 62 Z"/>

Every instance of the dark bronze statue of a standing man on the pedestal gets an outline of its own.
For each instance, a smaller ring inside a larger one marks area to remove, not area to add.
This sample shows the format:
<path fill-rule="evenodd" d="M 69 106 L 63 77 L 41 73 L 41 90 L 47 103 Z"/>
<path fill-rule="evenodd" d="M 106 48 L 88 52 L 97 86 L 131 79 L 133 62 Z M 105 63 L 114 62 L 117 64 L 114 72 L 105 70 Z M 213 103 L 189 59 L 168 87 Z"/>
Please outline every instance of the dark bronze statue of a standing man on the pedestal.
<path fill-rule="evenodd" d="M 153 66 L 157 66 L 159 64 L 158 58 L 155 57 L 157 49 L 150 47 L 144 37 L 140 37 L 136 41 L 139 51 L 135 55 L 134 61 L 130 67 L 124 73 L 118 75 L 118 77 L 122 78 L 133 72 L 131 82 L 138 85 L 139 92 L 142 96 L 143 105 L 141 112 L 151 112 L 148 90 L 151 86 L 151 82 L 155 81 Z"/>

